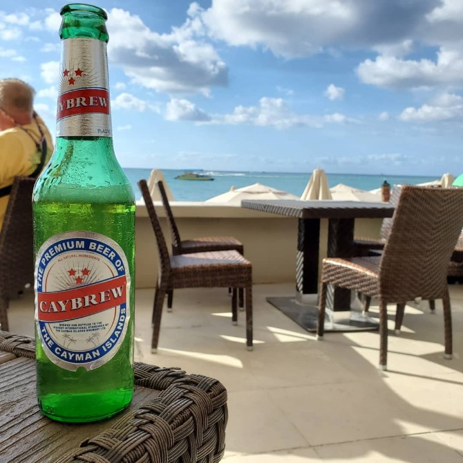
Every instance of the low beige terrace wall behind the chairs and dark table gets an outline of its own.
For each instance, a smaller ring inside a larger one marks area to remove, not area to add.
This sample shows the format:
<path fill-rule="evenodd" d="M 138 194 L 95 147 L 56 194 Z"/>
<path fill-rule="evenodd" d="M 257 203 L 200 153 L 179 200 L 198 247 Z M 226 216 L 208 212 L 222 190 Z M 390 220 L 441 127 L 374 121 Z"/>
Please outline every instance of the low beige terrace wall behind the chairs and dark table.
<path fill-rule="evenodd" d="M 236 206 L 209 203 L 171 203 L 182 239 L 200 236 L 234 236 L 243 242 L 245 257 L 252 262 L 253 281 L 295 282 L 297 223 L 292 217 L 271 215 Z M 155 202 L 167 245 L 170 230 L 160 202 Z M 158 278 L 155 236 L 143 203 L 137 205 L 135 233 L 135 281 L 137 288 L 151 288 Z M 357 219 L 355 235 L 377 237 L 381 219 Z M 328 221 L 321 221 L 320 262 L 326 255 Z"/>

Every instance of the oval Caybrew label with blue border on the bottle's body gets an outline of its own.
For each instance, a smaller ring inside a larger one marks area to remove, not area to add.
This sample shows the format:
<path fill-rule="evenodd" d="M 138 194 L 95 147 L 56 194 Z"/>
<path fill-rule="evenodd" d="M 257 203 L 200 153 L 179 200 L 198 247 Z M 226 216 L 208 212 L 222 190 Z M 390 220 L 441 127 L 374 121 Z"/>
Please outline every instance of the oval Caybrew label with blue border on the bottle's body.
<path fill-rule="evenodd" d="M 94 370 L 120 348 L 129 323 L 130 274 L 122 248 L 91 232 L 48 239 L 35 262 L 35 320 L 50 361 Z"/>

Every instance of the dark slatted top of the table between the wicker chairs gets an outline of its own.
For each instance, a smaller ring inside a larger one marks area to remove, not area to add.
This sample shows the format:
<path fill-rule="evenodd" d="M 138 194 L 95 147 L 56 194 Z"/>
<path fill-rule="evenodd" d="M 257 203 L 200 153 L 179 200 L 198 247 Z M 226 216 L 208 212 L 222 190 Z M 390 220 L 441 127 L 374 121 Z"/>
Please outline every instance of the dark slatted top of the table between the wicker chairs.
<path fill-rule="evenodd" d="M 299 219 L 361 219 L 393 217 L 394 206 L 369 201 L 320 199 L 243 199 L 241 207 Z"/>

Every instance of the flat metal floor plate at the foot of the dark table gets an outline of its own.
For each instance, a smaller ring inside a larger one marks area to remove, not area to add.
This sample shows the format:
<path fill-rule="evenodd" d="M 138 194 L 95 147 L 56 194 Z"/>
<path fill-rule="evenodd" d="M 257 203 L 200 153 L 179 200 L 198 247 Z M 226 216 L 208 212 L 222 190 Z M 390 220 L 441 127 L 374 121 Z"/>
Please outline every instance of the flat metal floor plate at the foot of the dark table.
<path fill-rule="evenodd" d="M 316 324 L 319 309 L 316 305 L 302 304 L 296 297 L 267 298 L 276 309 L 280 310 L 308 332 L 316 332 Z M 343 312 L 346 318 L 341 318 L 339 312 L 336 314 L 335 322 L 332 323 L 328 313 L 325 314 L 325 332 L 357 332 L 378 329 L 379 323 L 374 318 L 364 316 L 359 311 Z"/>

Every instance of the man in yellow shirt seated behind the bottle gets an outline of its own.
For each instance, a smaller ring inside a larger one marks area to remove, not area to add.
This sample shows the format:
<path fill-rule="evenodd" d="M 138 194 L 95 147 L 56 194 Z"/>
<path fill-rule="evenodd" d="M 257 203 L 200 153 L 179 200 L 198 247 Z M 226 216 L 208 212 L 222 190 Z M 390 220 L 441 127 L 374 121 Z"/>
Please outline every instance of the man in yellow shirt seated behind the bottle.
<path fill-rule="evenodd" d="M 22 80 L 0 80 L 0 228 L 15 176 L 35 178 L 53 152 L 50 131 L 34 111 L 34 96 Z"/>

